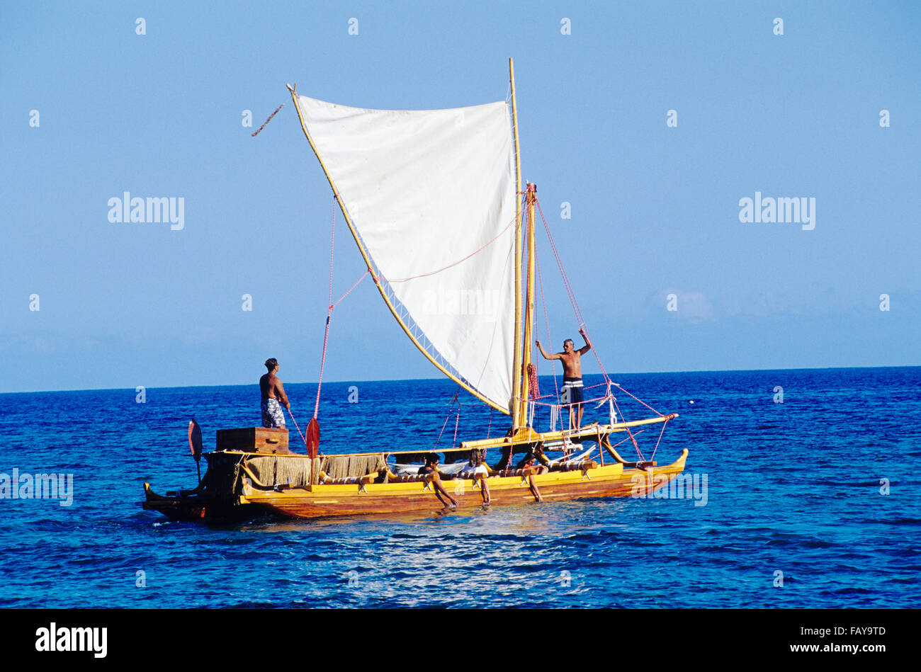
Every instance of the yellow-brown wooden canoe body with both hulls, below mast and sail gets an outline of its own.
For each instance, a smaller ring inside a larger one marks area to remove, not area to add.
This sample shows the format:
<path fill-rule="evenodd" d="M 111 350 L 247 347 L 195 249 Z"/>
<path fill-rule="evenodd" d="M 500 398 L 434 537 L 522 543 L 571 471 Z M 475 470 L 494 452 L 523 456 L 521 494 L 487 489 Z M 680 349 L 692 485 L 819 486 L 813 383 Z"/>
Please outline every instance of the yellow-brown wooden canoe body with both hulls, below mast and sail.
<path fill-rule="evenodd" d="M 536 433 L 525 430 L 515 438 L 487 439 L 461 444 L 460 448 L 442 451 L 469 451 L 472 448 L 499 448 L 523 452 L 541 441 L 545 446 L 560 446 L 594 439 L 602 449 L 600 462 L 586 462 L 581 469 L 551 470 L 530 476 L 493 476 L 488 479 L 490 504 L 525 504 L 535 500 L 530 485 L 536 486 L 544 501 L 584 497 L 644 496 L 674 479 L 684 469 L 687 450 L 670 465 L 655 462 L 628 462 L 611 446 L 609 436 L 624 432 L 628 426 L 662 422 L 659 419 L 594 425 L 577 432 Z M 399 455 L 399 454 L 392 454 Z M 604 464 L 604 456 L 608 464 Z M 371 482 L 361 478 L 377 473 L 386 464 L 388 454 L 354 454 L 329 456 L 335 459 L 364 459 L 361 473 L 352 474 L 357 482 L 337 484 L 320 482 L 321 458 L 306 455 L 274 455 L 239 450 L 204 453 L 208 470 L 204 481 L 194 491 L 154 492 L 145 483 L 146 510 L 155 510 L 178 520 L 240 519 L 260 514 L 288 517 L 354 516 L 434 511 L 441 507 L 431 482 Z M 375 460 L 378 460 L 375 466 Z M 483 504 L 480 481 L 445 478 L 445 489 L 458 501 L 460 508 Z"/>

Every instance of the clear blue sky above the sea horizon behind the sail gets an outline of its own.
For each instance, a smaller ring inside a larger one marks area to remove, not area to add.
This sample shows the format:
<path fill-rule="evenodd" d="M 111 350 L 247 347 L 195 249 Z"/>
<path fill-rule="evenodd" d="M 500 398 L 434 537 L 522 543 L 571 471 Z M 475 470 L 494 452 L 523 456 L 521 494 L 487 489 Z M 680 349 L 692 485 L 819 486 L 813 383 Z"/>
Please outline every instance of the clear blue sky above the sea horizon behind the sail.
<path fill-rule="evenodd" d="M 507 98 L 509 57 L 610 373 L 921 365 L 919 34 L 916 2 L 0 4 L 0 392 L 246 384 L 270 356 L 315 381 L 332 192 L 286 83 L 455 108 Z M 124 191 L 182 198 L 182 228 L 111 222 Z M 756 192 L 814 219 L 740 221 Z M 335 296 L 365 270 L 337 226 Z M 538 255 L 558 350 L 579 325 Z M 373 284 L 336 307 L 324 379 L 437 376 Z"/>

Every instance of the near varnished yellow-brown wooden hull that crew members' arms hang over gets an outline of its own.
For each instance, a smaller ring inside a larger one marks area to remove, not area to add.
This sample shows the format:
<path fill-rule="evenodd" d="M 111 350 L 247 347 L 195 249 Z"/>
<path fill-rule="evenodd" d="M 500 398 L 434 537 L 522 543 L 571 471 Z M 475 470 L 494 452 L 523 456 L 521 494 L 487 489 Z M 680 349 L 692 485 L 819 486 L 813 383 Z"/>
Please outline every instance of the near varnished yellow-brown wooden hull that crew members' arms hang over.
<path fill-rule="evenodd" d="M 535 475 L 545 502 L 585 497 L 643 496 L 658 490 L 684 469 L 688 451 L 674 463 L 650 469 L 624 469 L 617 463 L 585 471 L 554 471 Z M 459 509 L 483 505 L 479 487 L 471 480 L 442 481 L 458 501 Z M 528 504 L 535 501 L 528 481 L 521 477 L 488 480 L 490 504 Z M 368 483 L 367 485 L 312 485 L 277 492 L 261 490 L 244 481 L 241 504 L 254 504 L 281 516 L 315 518 L 401 512 L 433 512 L 443 508 L 431 484 Z"/>

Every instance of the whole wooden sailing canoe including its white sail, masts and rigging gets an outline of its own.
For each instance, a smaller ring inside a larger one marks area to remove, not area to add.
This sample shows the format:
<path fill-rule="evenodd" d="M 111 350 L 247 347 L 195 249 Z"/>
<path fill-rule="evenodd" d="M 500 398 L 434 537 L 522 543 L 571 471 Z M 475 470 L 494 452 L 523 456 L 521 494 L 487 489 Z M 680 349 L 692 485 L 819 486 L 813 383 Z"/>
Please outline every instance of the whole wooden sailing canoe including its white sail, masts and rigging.
<path fill-rule="evenodd" d="M 557 430 L 557 418 L 562 427 L 573 404 L 558 392 L 540 395 L 531 358 L 540 205 L 534 184 L 521 188 L 510 59 L 509 77 L 510 106 L 507 100 L 457 110 L 364 110 L 300 96 L 288 87 L 367 265 L 362 279 L 371 276 L 407 337 L 442 374 L 510 416 L 507 434 L 433 449 L 443 456 L 435 474 L 415 474 L 406 466 L 427 450 L 320 455 L 318 386 L 306 455 L 288 450 L 286 430 L 262 427 L 218 431 L 216 450 L 203 453 L 193 421 L 189 441 L 196 461 L 203 456 L 207 461 L 204 479 L 194 490 L 165 495 L 145 483 L 146 510 L 180 520 L 432 512 L 442 508 L 438 484 L 458 508 L 469 509 L 483 505 L 484 480 L 490 504 L 525 504 L 646 496 L 682 472 L 686 449 L 669 465 L 654 459 L 665 425 L 677 413 L 659 413 L 641 402 L 656 415 L 624 421 L 618 396 L 636 398 L 612 382 L 600 359 L 603 394 L 584 403 L 607 406 L 607 423 L 573 427 L 570 420 L 569 428 Z M 546 220 L 543 224 L 549 237 Z M 584 327 L 552 237 L 550 243 Z M 330 303 L 327 336 L 332 287 Z M 324 356 L 325 343 L 324 337 Z M 534 428 L 538 408 L 550 409 L 550 431 Z M 659 440 L 646 458 L 635 438 L 642 430 L 634 428 L 657 423 Z M 612 443 L 618 434 L 625 438 Z M 636 459 L 618 453 L 617 446 L 627 441 Z M 502 468 L 475 475 L 457 469 L 477 450 L 502 455 Z M 521 453 L 533 455 L 534 466 L 508 469 Z"/>

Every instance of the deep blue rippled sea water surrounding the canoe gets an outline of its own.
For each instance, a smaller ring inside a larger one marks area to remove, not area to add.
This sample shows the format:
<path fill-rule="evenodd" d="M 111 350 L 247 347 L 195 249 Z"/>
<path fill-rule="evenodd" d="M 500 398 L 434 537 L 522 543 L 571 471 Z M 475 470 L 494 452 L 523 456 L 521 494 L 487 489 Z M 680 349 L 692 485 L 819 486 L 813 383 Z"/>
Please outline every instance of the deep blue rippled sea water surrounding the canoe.
<path fill-rule="evenodd" d="M 193 487 L 189 419 L 209 449 L 216 429 L 259 423 L 257 386 L 151 388 L 145 403 L 134 389 L 0 395 L 0 472 L 74 475 L 70 506 L 0 499 L 0 606 L 921 607 L 921 367 L 613 379 L 681 413 L 656 459 L 687 448 L 687 472 L 706 476 L 705 505 L 589 499 L 173 522 L 141 510 L 144 481 Z M 286 388 L 303 428 L 316 386 Z M 455 391 L 440 380 L 327 383 L 321 448 L 427 450 Z M 643 417 L 618 399 L 628 420 Z M 459 441 L 507 428 L 482 405 L 461 409 Z M 605 417 L 586 411 L 589 422 Z M 451 418 L 439 446 L 453 434 Z M 657 425 L 638 437 L 647 455 L 658 435 Z"/>

